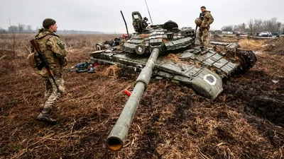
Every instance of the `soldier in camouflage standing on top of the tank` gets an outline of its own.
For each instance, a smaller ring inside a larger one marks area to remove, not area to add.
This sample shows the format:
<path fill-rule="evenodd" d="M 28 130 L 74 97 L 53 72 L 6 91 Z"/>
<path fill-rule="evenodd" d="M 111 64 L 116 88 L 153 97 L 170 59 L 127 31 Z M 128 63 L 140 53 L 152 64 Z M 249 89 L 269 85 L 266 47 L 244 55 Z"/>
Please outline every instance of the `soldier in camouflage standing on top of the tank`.
<path fill-rule="evenodd" d="M 202 6 L 201 8 L 201 12 L 200 13 L 200 20 L 201 20 L 201 24 L 200 24 L 200 30 L 198 32 L 197 35 L 197 39 L 200 40 L 200 45 L 201 45 L 201 49 L 202 52 L 201 54 L 205 54 L 207 52 L 207 47 L 208 47 L 208 32 L 209 32 L 209 28 L 210 28 L 210 24 L 213 23 L 214 18 L 211 15 L 210 11 L 206 10 L 205 6 Z"/>

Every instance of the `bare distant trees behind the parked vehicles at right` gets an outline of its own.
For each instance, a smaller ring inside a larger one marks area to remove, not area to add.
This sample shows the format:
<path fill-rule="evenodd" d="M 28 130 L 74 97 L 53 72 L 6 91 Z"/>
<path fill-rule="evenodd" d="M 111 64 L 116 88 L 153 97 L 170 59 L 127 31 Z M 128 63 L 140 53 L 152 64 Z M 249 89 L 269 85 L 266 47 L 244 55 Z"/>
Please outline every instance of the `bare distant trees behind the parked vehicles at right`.
<path fill-rule="evenodd" d="M 263 31 L 269 31 L 271 33 L 284 33 L 284 23 L 278 21 L 277 18 L 271 18 L 270 20 L 250 19 L 247 23 L 223 26 L 221 30 L 249 33 L 251 35 L 256 35 L 257 33 Z"/>

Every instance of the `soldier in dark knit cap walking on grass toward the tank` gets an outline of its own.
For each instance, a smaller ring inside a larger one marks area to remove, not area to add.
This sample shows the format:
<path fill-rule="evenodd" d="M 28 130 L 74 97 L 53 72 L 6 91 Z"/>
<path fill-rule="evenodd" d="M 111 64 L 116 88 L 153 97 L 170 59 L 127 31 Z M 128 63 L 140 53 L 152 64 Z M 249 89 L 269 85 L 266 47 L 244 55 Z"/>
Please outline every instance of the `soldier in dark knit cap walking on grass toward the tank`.
<path fill-rule="evenodd" d="M 60 41 L 60 37 L 55 35 L 58 30 L 56 21 L 51 18 L 46 18 L 43 20 L 43 28 L 38 31 L 35 35 L 35 41 L 38 43 L 40 52 L 45 54 L 45 57 L 50 65 L 50 69 L 53 71 L 55 76 L 56 84 L 55 86 L 53 79 L 46 69 L 41 69 L 38 71 L 40 76 L 43 76 L 43 81 L 45 84 L 45 98 L 47 98 L 45 104 L 43 105 L 42 112 L 36 118 L 38 121 L 47 122 L 50 124 L 55 124 L 56 120 L 50 117 L 50 111 L 55 105 L 56 100 L 62 97 L 62 93 L 65 91 L 64 81 L 62 78 L 62 66 L 66 66 L 67 51 Z M 33 49 L 33 52 L 34 49 Z M 40 63 L 40 59 L 35 57 L 37 64 Z"/>

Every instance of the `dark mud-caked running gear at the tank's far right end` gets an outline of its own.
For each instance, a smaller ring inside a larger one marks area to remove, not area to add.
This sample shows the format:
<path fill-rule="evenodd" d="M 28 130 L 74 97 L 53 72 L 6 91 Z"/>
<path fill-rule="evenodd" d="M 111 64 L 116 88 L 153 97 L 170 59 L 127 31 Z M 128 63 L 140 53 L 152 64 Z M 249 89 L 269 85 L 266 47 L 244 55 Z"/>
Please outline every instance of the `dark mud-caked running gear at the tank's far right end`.
<path fill-rule="evenodd" d="M 240 62 L 239 68 L 236 71 L 237 73 L 245 73 L 249 71 L 254 64 L 256 64 L 256 54 L 251 50 L 243 50 L 236 49 L 236 57 L 238 57 L 238 61 Z"/>

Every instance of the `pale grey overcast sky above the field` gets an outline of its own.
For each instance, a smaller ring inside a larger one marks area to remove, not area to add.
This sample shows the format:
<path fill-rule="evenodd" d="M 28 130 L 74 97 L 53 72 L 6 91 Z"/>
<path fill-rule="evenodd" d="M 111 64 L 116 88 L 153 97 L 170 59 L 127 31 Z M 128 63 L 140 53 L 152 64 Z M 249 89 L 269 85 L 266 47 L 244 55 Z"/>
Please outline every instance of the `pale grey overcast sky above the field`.
<path fill-rule="evenodd" d="M 195 27 L 194 20 L 199 16 L 200 6 L 206 6 L 214 17 L 211 28 L 216 30 L 224 25 L 247 23 L 250 18 L 278 18 L 284 23 L 284 0 L 147 0 L 154 24 L 168 20 L 179 27 Z M 129 32 L 133 32 L 131 13 L 139 11 L 148 16 L 144 0 L 1 0 L 0 27 L 22 23 L 41 27 L 43 19 L 54 18 L 59 30 L 91 30 L 126 33 L 120 11 L 123 11 Z"/>

